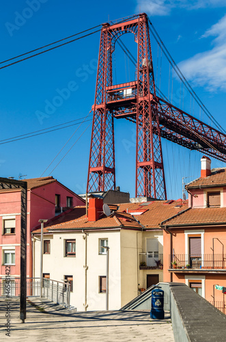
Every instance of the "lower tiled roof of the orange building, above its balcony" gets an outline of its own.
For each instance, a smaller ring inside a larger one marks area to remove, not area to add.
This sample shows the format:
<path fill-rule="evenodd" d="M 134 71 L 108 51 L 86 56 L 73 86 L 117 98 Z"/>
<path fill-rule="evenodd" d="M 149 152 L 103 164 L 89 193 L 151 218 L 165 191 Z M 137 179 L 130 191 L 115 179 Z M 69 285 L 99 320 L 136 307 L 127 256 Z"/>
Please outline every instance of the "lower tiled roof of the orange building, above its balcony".
<path fill-rule="evenodd" d="M 204 226 L 226 224 L 226 208 L 189 208 L 162 222 L 163 226 Z"/>

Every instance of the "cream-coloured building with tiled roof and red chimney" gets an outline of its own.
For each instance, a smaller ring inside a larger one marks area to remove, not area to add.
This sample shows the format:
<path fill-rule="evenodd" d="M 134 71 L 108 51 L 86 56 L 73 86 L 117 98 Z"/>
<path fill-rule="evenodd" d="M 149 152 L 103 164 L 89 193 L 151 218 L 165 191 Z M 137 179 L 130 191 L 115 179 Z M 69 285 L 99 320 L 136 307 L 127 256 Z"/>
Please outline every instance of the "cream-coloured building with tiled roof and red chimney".
<path fill-rule="evenodd" d="M 81 207 L 62 214 L 44 228 L 43 276 L 70 282 L 70 304 L 77 311 L 104 310 L 107 246 L 109 310 L 121 308 L 140 291 L 163 281 L 163 230 L 158 224 L 178 212 L 172 205 L 165 205 L 167 212 L 161 210 L 164 202 L 150 202 L 148 209 L 141 203 L 111 205 L 107 216 L 102 201 L 95 198 L 89 200 L 87 216 Z M 154 213 L 161 213 L 162 220 Z M 38 278 L 40 230 L 32 235 L 33 269 Z"/>

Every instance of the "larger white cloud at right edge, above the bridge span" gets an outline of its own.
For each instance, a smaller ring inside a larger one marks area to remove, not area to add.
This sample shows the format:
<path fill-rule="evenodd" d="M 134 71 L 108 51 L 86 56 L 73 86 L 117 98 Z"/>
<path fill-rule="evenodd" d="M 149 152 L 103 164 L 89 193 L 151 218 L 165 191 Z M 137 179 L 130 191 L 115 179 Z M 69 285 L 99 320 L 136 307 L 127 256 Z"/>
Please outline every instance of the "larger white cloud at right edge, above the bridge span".
<path fill-rule="evenodd" d="M 214 47 L 179 64 L 184 76 L 210 92 L 226 91 L 226 15 L 201 38 L 214 36 Z"/>

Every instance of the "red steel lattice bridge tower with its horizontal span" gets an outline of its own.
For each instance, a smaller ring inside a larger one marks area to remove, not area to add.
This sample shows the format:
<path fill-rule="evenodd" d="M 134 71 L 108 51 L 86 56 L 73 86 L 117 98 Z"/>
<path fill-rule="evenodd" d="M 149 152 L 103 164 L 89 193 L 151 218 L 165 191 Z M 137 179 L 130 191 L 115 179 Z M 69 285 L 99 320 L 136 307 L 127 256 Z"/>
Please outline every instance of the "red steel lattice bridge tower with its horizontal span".
<path fill-rule="evenodd" d="M 113 85 L 116 40 L 133 33 L 138 44 L 137 79 Z M 150 31 L 146 14 L 104 23 L 89 155 L 87 192 L 115 189 L 114 118 L 137 124 L 136 196 L 167 199 L 161 137 L 226 161 L 226 135 L 156 96 Z"/>

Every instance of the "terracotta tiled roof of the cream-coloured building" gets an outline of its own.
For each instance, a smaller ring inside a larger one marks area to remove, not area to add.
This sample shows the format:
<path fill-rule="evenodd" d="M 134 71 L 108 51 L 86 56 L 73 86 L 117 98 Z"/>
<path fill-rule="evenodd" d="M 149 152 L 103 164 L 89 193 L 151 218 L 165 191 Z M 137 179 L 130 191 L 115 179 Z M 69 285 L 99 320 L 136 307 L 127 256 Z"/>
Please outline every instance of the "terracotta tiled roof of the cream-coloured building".
<path fill-rule="evenodd" d="M 85 215 L 85 207 L 74 207 L 69 213 L 62 213 L 51 222 L 47 222 L 44 233 L 52 231 L 68 231 L 82 229 L 159 229 L 159 224 L 172 215 L 188 207 L 187 201 L 157 200 L 145 203 L 123 203 L 118 206 L 110 205 L 112 213 L 110 216 L 101 214 L 95 222 L 89 222 Z M 117 209 L 118 208 L 118 209 Z M 40 233 L 40 229 L 33 231 Z"/>

